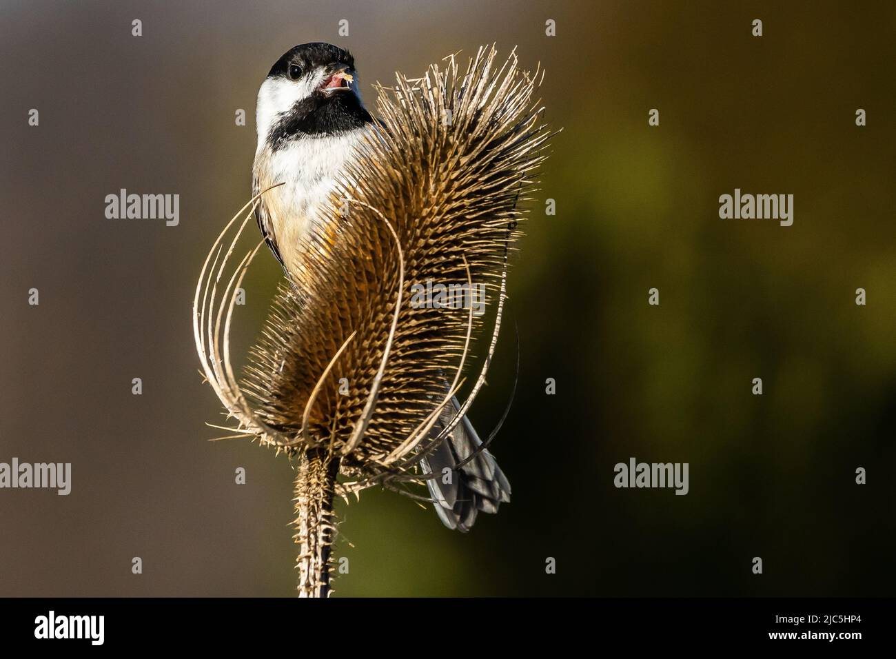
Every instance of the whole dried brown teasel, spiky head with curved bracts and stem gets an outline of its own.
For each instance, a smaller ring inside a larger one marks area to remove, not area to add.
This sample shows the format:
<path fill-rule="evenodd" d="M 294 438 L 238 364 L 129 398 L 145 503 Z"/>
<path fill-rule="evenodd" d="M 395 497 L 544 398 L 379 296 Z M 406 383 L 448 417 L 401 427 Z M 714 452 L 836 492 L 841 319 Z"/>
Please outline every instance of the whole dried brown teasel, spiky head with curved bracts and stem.
<path fill-rule="evenodd" d="M 236 264 L 234 253 L 265 191 L 211 247 L 194 299 L 197 350 L 237 421 L 228 437 L 257 438 L 297 464 L 300 596 L 332 591 L 336 496 L 381 486 L 424 499 L 409 487 L 442 476 L 420 462 L 470 409 L 495 351 L 509 255 L 551 135 L 535 96 L 541 76 L 491 47 L 465 68 L 449 56 L 420 78 L 377 85 L 378 127 L 280 285 L 243 377 L 230 326 L 263 241 Z M 414 303 L 427 280 L 484 287 L 492 313 Z M 485 351 L 476 369 L 474 342 Z"/>

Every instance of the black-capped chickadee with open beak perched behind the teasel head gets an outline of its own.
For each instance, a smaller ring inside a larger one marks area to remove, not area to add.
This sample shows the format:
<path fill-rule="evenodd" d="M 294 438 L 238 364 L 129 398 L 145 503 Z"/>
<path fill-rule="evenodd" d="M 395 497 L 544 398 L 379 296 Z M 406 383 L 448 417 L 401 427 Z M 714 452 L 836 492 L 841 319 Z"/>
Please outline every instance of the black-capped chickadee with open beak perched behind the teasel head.
<path fill-rule="evenodd" d="M 258 91 L 255 124 L 253 195 L 267 190 L 255 219 L 289 276 L 302 269 L 307 238 L 327 230 L 337 181 L 344 180 L 366 136 L 382 126 L 361 98 L 355 58 L 323 42 L 291 48 L 271 66 Z M 460 409 L 452 397 L 430 436 L 450 428 Z M 449 529 L 467 532 L 479 512 L 496 513 L 510 501 L 510 482 L 466 416 L 420 465 L 430 474 L 430 498 Z"/>

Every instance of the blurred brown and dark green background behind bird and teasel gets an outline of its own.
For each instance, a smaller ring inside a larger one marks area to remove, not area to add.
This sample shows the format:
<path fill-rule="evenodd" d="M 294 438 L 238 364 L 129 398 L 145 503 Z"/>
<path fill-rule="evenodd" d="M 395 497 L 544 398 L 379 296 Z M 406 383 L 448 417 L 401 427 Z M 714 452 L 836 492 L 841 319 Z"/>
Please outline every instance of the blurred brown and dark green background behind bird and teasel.
<path fill-rule="evenodd" d="M 71 462 L 73 490 L 0 490 L 0 595 L 295 593 L 291 467 L 206 441 L 223 417 L 190 319 L 250 195 L 258 86 L 313 40 L 352 51 L 371 106 L 396 70 L 517 46 L 564 128 L 510 280 L 521 372 L 493 451 L 513 501 L 467 535 L 389 492 L 340 504 L 337 596 L 892 594 L 896 7 L 784 5 L 4 0 L 0 462 Z M 736 187 L 795 195 L 793 226 L 719 220 Z M 120 188 L 180 195 L 179 225 L 106 219 Z M 689 463 L 689 494 L 617 490 L 631 456 Z"/>

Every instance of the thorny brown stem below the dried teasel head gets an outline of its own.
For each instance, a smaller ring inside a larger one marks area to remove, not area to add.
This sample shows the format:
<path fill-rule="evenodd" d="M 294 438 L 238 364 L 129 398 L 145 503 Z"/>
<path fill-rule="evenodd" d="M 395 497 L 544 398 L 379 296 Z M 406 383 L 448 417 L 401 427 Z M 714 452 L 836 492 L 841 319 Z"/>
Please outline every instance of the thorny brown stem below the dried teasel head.
<path fill-rule="evenodd" d="M 296 468 L 298 596 L 329 597 L 330 551 L 335 533 L 333 497 L 339 457 L 325 451 L 300 454 Z"/>

